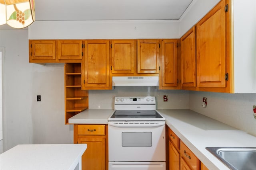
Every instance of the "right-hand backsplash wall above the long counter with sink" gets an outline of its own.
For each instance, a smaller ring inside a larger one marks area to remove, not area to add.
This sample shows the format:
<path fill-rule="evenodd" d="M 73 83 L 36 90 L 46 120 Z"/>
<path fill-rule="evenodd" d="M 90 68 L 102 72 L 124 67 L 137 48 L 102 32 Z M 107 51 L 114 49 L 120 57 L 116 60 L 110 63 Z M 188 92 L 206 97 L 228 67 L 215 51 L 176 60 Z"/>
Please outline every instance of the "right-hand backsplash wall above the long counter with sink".
<path fill-rule="evenodd" d="M 203 97 L 207 107 L 201 106 Z M 226 123 L 256 136 L 256 119 L 253 105 L 256 94 L 226 94 L 213 92 L 189 92 L 189 109 Z M 228 135 L 228 134 L 227 134 Z"/>

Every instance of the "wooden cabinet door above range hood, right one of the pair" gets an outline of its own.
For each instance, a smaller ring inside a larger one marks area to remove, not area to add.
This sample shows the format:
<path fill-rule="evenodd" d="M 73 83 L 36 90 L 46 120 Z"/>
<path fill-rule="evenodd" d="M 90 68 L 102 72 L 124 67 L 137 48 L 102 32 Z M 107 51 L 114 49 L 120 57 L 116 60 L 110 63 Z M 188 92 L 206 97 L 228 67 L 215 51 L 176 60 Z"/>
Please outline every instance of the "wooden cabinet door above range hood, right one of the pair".
<path fill-rule="evenodd" d="M 158 39 L 138 40 L 138 73 L 159 73 L 159 49 Z"/>

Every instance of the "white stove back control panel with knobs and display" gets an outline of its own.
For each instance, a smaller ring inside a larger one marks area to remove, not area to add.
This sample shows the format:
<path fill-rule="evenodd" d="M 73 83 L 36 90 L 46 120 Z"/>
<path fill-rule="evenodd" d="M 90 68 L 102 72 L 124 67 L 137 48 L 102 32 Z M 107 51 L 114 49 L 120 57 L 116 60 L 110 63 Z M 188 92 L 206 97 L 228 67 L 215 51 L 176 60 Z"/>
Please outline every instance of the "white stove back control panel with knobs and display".
<path fill-rule="evenodd" d="M 116 96 L 117 104 L 156 104 L 155 96 Z"/>

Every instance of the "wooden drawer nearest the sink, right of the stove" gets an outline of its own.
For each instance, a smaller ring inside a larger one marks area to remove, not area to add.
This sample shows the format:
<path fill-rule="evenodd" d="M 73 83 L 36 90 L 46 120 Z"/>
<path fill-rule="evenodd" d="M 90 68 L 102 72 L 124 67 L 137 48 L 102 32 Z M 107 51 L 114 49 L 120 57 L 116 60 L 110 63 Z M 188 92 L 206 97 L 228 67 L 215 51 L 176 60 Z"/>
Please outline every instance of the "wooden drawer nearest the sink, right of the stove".
<path fill-rule="evenodd" d="M 180 157 L 182 157 L 193 170 L 197 169 L 197 157 L 180 141 Z"/>

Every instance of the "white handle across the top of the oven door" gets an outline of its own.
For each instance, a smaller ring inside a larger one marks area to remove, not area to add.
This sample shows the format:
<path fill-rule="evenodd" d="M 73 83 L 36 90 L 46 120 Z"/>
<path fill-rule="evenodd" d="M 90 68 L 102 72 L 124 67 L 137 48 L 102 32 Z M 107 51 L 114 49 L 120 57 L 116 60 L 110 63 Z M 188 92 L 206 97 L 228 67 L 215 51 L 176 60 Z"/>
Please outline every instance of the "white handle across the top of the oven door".
<path fill-rule="evenodd" d="M 109 126 L 113 127 L 158 127 L 165 125 L 165 121 L 158 122 L 158 123 L 114 123 L 108 122 Z"/>

